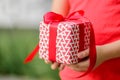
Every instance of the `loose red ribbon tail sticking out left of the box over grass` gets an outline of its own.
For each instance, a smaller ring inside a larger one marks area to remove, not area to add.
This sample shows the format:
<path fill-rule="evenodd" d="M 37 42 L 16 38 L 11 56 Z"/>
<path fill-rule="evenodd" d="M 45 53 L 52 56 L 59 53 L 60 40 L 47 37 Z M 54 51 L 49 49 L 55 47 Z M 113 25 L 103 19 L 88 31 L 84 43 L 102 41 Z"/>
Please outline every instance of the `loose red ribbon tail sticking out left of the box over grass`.
<path fill-rule="evenodd" d="M 28 62 L 32 61 L 37 52 L 39 51 L 39 44 L 35 47 L 35 49 L 26 57 L 24 60 L 24 64 L 27 64 Z"/>

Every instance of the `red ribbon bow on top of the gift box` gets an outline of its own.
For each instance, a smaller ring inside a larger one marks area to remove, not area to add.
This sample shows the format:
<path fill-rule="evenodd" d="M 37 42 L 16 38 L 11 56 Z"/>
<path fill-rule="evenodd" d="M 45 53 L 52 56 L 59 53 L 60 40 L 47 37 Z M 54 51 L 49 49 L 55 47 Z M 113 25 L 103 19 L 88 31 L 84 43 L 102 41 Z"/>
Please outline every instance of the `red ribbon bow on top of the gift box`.
<path fill-rule="evenodd" d="M 80 16 L 83 16 L 83 15 L 84 15 L 84 11 L 82 11 L 82 10 L 73 12 L 70 15 L 68 15 L 67 17 L 63 17 L 62 15 L 54 13 L 54 12 L 48 12 L 44 15 L 44 22 L 46 24 L 49 24 L 51 22 L 60 22 L 60 21 L 65 21 L 65 20 L 76 20 L 76 19 L 79 19 Z"/>

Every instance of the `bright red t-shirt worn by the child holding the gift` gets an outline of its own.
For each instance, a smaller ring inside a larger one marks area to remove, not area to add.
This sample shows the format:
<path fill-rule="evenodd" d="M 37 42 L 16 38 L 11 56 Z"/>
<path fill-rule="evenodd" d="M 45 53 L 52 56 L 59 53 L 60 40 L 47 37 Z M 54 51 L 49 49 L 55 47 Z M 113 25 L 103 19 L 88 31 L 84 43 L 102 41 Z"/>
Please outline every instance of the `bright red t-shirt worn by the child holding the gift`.
<path fill-rule="evenodd" d="M 120 0 L 69 0 L 70 13 L 84 10 L 95 31 L 96 45 L 120 40 Z M 120 58 L 108 60 L 88 75 L 65 67 L 61 80 L 120 80 Z"/>

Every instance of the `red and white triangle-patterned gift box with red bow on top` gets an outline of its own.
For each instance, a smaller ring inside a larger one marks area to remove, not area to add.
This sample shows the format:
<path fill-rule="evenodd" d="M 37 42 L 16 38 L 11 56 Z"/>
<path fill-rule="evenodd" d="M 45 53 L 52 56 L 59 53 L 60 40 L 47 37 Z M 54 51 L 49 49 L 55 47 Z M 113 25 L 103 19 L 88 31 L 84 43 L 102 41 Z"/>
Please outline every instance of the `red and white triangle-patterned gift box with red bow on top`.
<path fill-rule="evenodd" d="M 47 13 L 40 22 L 39 57 L 64 64 L 78 63 L 77 53 L 90 48 L 91 28 L 91 22 L 81 11 L 67 18 Z"/>

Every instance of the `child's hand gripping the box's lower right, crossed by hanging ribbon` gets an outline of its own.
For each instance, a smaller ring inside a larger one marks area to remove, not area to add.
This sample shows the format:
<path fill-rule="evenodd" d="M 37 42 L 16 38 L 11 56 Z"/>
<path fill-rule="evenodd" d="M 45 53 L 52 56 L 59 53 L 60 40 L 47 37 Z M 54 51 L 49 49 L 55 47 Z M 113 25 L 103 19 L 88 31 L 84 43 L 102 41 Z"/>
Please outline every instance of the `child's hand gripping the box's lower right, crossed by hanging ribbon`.
<path fill-rule="evenodd" d="M 101 52 L 102 48 L 100 46 L 97 46 L 96 49 L 97 49 L 97 53 L 96 53 L 97 54 L 97 59 L 96 59 L 96 64 L 95 64 L 94 68 L 98 67 L 101 63 L 103 63 L 105 61 L 104 55 Z M 89 49 L 78 53 L 78 57 L 80 59 L 83 59 L 83 58 L 85 58 L 87 56 L 89 56 Z M 79 62 L 77 64 L 68 65 L 68 67 L 70 67 L 71 69 L 73 69 L 75 71 L 83 72 L 83 71 L 87 71 L 89 65 L 90 65 L 90 59 L 88 58 L 88 59 L 86 59 L 84 61 L 81 61 L 81 62 Z"/>

